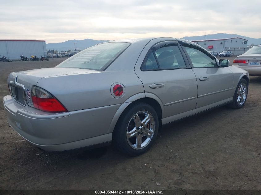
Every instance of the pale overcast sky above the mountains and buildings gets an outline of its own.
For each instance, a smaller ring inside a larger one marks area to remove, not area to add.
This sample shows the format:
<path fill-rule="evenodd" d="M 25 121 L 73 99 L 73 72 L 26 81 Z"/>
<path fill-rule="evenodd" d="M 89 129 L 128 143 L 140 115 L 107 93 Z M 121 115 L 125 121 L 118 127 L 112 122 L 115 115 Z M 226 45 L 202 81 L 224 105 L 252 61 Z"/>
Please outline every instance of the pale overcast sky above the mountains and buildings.
<path fill-rule="evenodd" d="M 260 0 L 6 0 L 0 39 L 115 40 L 229 33 L 261 38 Z"/>

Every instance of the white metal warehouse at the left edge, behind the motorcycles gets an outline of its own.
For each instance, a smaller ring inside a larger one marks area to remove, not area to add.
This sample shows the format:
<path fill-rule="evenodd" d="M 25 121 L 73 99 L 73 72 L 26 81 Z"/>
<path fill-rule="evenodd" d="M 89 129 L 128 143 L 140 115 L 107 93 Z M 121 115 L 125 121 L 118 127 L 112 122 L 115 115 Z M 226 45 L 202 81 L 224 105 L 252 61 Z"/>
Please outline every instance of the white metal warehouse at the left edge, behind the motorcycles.
<path fill-rule="evenodd" d="M 30 58 L 31 55 L 40 57 L 46 55 L 45 41 L 0 39 L 0 57 L 8 59 L 20 59 L 20 55 Z"/>

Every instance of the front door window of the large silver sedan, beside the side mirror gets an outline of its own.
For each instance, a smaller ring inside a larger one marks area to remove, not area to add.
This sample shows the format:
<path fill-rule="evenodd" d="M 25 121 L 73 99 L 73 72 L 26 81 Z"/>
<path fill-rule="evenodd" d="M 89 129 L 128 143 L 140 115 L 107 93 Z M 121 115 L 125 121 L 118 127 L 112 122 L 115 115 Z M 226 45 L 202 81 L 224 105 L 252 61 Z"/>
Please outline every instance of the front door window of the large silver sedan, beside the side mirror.
<path fill-rule="evenodd" d="M 184 48 L 191 59 L 193 67 L 217 67 L 217 62 L 214 57 L 212 58 L 206 55 L 203 51 L 193 46 L 184 46 Z"/>

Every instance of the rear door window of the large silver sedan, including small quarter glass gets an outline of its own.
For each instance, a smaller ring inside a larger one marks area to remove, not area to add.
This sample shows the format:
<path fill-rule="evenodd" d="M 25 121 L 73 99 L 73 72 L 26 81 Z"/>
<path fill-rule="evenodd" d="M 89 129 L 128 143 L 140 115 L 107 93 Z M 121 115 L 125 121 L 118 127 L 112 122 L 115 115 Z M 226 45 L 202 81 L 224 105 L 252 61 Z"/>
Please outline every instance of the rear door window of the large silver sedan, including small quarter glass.
<path fill-rule="evenodd" d="M 141 70 L 159 70 L 186 68 L 186 64 L 177 45 L 163 46 L 155 52 L 150 50 L 141 66 Z"/>

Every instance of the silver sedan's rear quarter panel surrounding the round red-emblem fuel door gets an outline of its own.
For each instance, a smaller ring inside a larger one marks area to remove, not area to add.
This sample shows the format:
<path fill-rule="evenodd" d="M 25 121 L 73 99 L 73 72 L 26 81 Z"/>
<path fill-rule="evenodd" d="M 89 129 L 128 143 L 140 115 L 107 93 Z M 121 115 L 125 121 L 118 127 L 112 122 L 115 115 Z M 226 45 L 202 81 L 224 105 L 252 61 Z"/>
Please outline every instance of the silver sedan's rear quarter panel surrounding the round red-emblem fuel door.
<path fill-rule="evenodd" d="M 112 96 L 113 83 L 124 85 L 122 97 Z M 46 77 L 40 79 L 37 86 L 53 94 L 68 111 L 122 104 L 131 96 L 144 92 L 134 70 Z"/>

